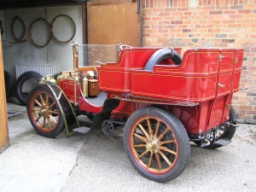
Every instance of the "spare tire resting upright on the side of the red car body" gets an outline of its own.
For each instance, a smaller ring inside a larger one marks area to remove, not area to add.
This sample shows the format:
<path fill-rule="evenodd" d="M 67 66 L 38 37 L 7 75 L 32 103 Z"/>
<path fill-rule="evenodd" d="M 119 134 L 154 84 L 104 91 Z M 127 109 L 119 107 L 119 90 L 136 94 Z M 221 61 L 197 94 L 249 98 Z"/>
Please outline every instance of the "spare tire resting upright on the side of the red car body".
<path fill-rule="evenodd" d="M 176 66 L 178 66 L 183 60 L 183 58 L 174 49 L 159 49 L 150 56 L 144 69 L 153 71 L 154 65 L 157 65 L 160 61 L 166 58 L 171 59 Z"/>

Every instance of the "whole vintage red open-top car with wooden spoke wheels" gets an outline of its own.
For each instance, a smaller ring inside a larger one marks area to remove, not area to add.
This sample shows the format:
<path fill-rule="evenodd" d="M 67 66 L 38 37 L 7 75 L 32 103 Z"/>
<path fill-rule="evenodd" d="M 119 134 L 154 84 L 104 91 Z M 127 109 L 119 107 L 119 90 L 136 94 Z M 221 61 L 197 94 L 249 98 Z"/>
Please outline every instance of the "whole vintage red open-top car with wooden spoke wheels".
<path fill-rule="evenodd" d="M 28 117 L 44 137 L 102 128 L 144 177 L 167 182 L 185 169 L 189 142 L 230 143 L 243 52 L 196 48 L 181 57 L 180 48 L 74 43 L 73 71 L 41 80 L 28 96 Z M 80 127 L 79 115 L 92 120 L 90 128 Z"/>

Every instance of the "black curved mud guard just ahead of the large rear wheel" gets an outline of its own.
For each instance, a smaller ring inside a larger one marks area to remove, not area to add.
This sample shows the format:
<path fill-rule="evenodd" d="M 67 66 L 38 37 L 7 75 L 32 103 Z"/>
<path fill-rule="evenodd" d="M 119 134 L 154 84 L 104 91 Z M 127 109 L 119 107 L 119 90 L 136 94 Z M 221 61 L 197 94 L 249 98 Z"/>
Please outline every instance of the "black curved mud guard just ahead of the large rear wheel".
<path fill-rule="evenodd" d="M 90 130 L 102 129 L 102 122 L 106 119 L 109 119 L 113 109 L 119 107 L 119 102 L 120 101 L 118 99 L 113 99 L 113 98 L 106 99 L 103 104 L 102 111 L 100 113 L 96 113 L 96 115 L 94 116 L 92 125 L 90 126 Z"/>

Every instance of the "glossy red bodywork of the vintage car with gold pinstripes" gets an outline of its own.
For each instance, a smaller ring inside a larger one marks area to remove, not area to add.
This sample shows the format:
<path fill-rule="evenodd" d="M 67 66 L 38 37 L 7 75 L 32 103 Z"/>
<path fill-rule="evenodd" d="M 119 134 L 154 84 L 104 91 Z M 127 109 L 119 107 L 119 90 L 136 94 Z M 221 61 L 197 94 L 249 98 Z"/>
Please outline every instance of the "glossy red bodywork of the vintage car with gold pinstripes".
<path fill-rule="evenodd" d="M 243 49 L 189 49 L 178 66 L 163 62 L 153 71 L 144 70 L 156 50 L 124 49 L 117 63 L 98 67 L 100 90 L 121 101 L 113 110 L 115 116 L 125 114 L 128 119 L 138 108 L 159 105 L 174 113 L 186 131 L 195 135 L 229 120 L 232 95 L 239 90 Z M 74 102 L 73 80 L 61 79 L 60 87 Z M 77 92 L 79 110 L 102 111 L 84 98 L 81 84 Z"/>

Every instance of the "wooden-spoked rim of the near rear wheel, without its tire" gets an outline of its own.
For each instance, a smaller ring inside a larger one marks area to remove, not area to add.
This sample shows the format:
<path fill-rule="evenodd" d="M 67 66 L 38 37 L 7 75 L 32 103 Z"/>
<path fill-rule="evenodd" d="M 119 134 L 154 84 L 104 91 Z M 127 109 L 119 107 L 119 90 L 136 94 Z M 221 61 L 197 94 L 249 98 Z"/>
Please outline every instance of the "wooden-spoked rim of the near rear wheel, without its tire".
<path fill-rule="evenodd" d="M 178 158 L 177 139 L 163 119 L 143 116 L 131 126 L 131 154 L 138 166 L 154 175 L 170 172 Z"/>

